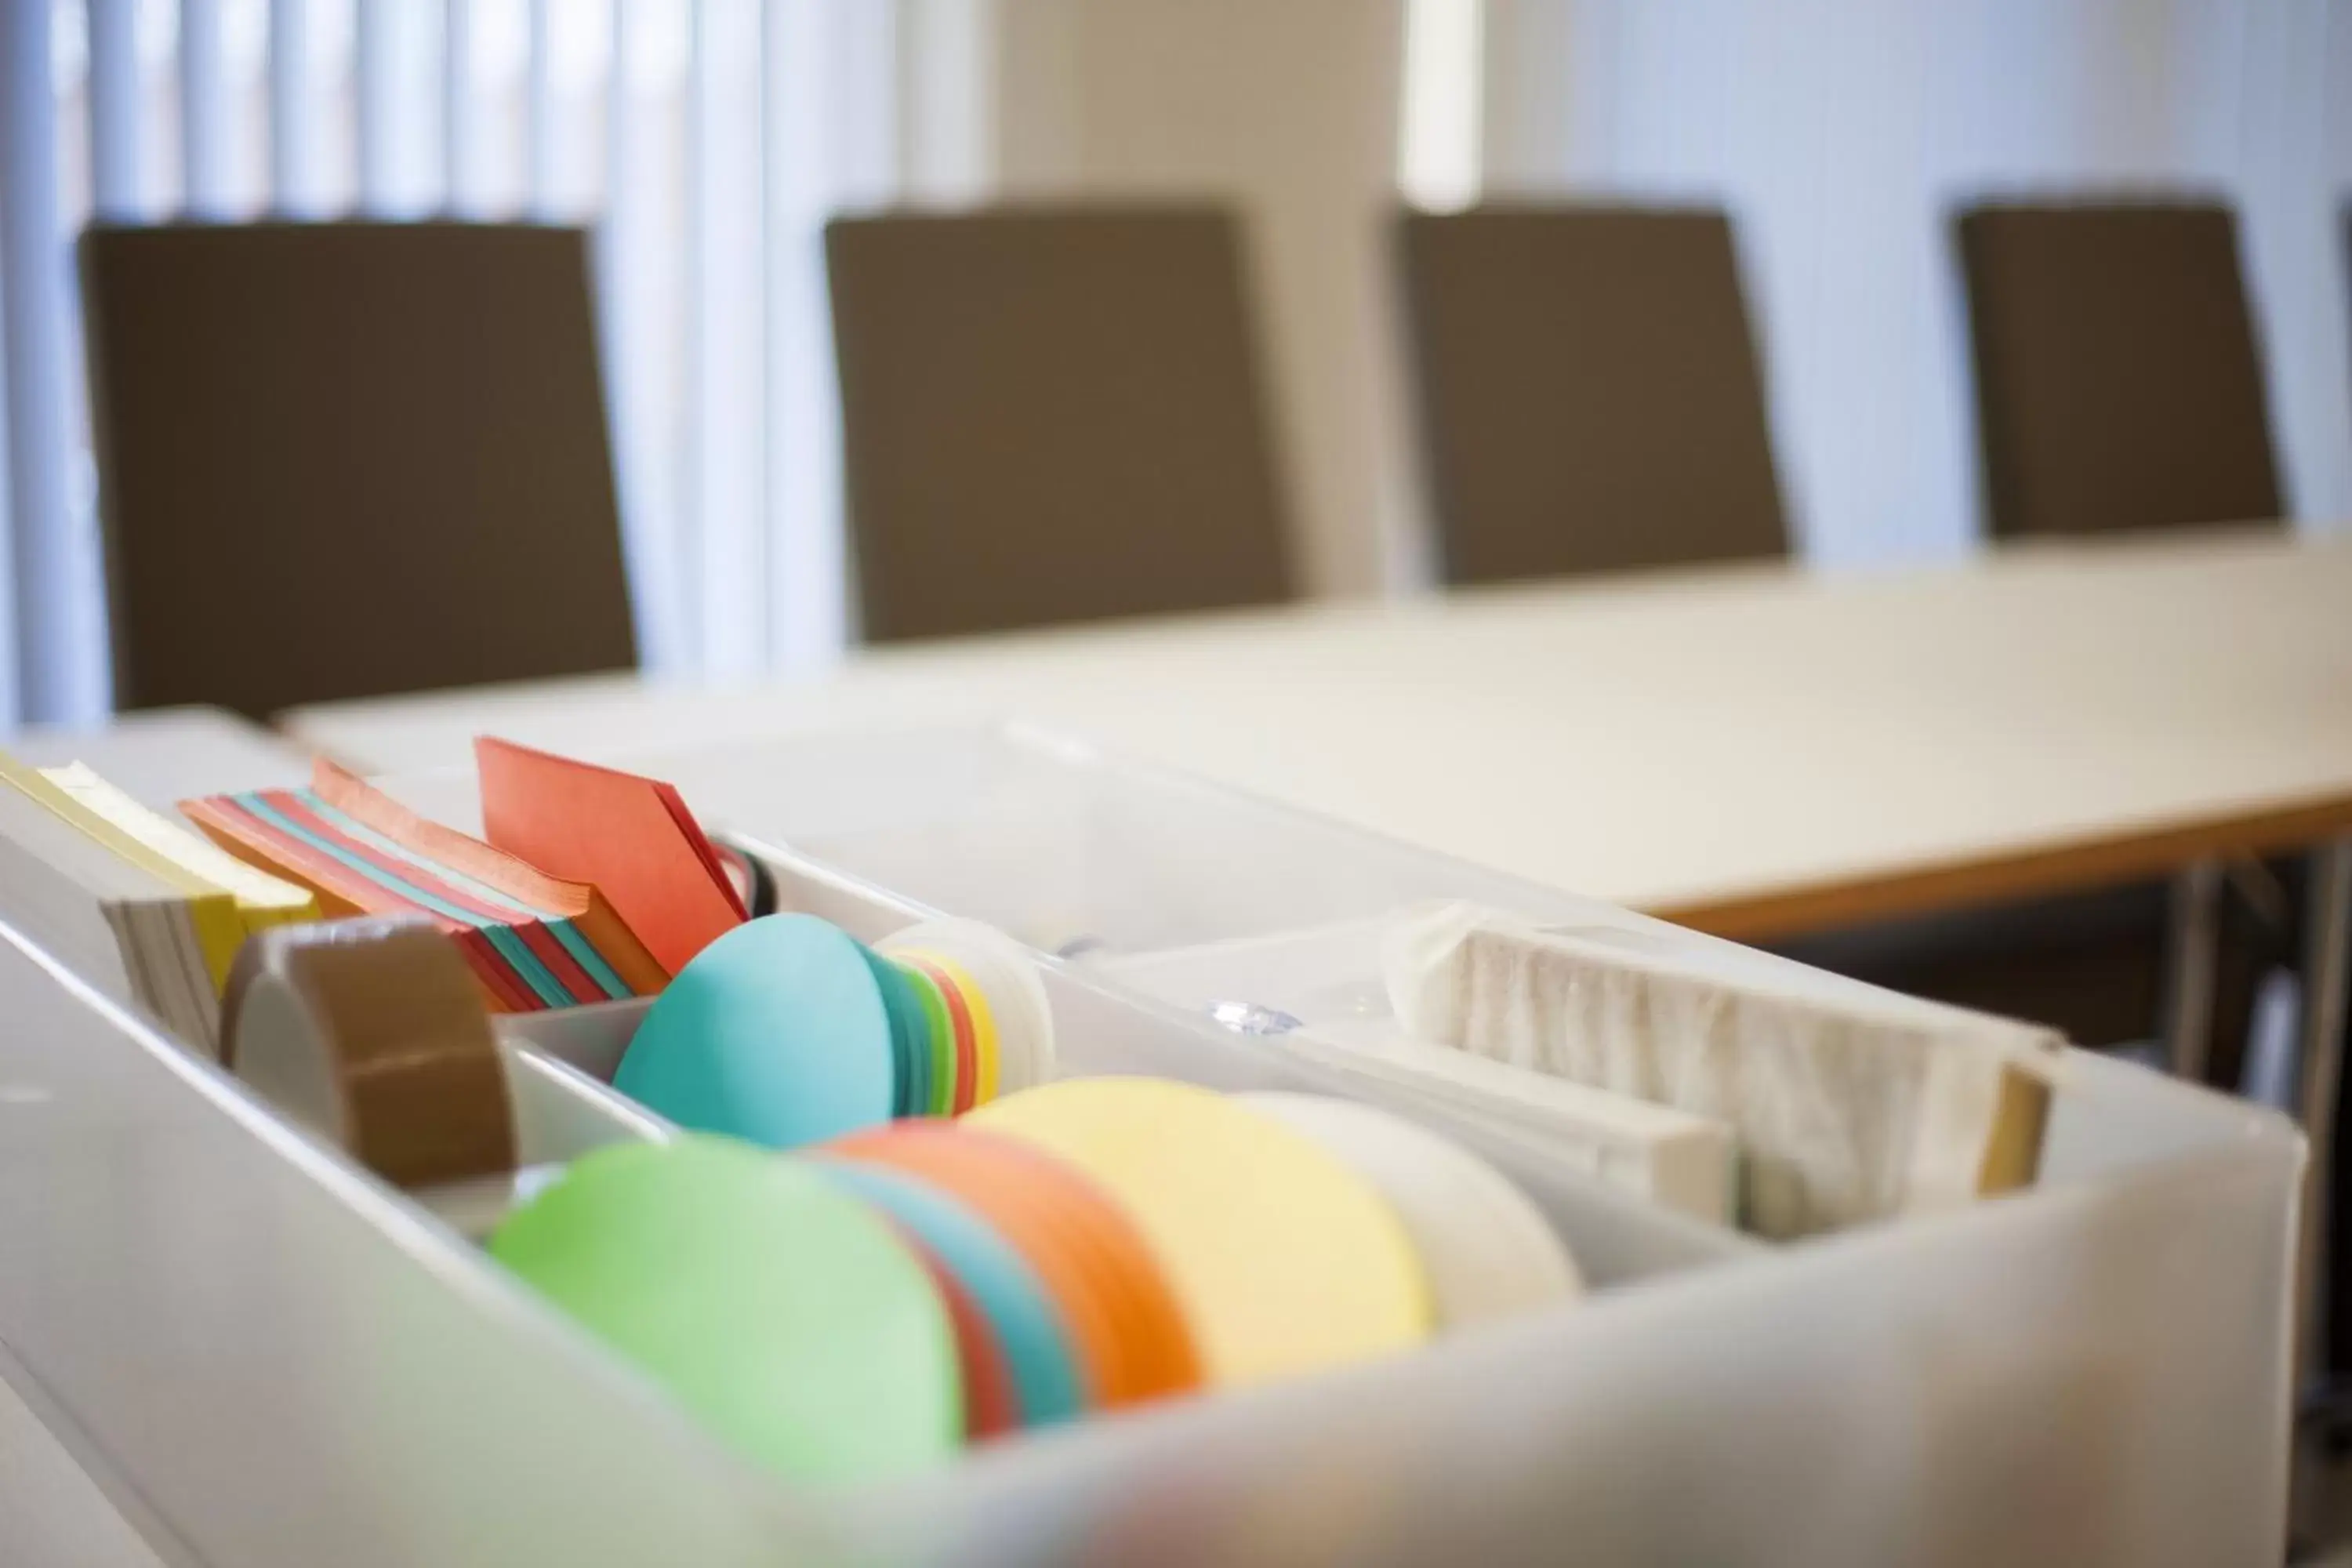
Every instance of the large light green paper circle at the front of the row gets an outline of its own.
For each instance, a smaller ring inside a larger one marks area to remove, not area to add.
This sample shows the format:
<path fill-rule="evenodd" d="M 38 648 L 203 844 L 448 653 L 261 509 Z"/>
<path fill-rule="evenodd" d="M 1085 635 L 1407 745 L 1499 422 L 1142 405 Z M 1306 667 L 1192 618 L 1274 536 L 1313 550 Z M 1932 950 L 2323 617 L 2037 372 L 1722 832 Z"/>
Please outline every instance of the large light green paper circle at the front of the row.
<path fill-rule="evenodd" d="M 607 1145 L 489 1255 L 797 1481 L 957 1453 L 946 1307 L 889 1222 L 818 1171 L 722 1138 Z"/>

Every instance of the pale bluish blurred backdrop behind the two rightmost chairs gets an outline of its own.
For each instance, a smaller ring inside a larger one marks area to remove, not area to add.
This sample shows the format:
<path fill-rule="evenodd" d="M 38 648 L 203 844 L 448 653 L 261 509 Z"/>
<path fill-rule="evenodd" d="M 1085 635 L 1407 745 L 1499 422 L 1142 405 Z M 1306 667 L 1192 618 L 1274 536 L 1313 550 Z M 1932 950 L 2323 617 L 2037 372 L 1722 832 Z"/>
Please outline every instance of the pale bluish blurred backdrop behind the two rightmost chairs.
<path fill-rule="evenodd" d="M 2352 7 L 2328 0 L 1486 0 L 1486 188 L 1731 207 L 1816 562 L 1978 536 L 1945 219 L 1992 190 L 2237 200 L 2291 505 L 2352 520 L 2343 202 Z"/>

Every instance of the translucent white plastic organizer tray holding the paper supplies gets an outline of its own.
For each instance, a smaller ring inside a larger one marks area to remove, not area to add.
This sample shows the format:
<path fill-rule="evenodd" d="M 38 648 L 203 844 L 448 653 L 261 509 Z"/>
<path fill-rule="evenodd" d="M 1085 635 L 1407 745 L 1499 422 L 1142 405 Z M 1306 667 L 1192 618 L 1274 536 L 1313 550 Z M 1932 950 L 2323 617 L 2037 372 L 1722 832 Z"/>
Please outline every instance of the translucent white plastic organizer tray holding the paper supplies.
<path fill-rule="evenodd" d="M 1592 1295 L 802 1493 L 508 1281 L 461 1215 L 0 933 L 0 1368 L 165 1561 L 2277 1556 L 2303 1145 L 2274 1114 L 2074 1053 L 2034 1190 L 1766 1248 L 1207 1016 L 1376 1016 L 1378 922 L 1425 898 L 1710 938 L 1018 731 L 637 766 L 760 853 L 786 907 L 868 940 L 969 914 L 1073 954 L 1047 959 L 1065 1072 L 1305 1086 L 1437 1126 L 1526 1187 Z M 473 825 L 459 778 L 395 792 Z M 600 1084 L 635 1006 L 508 1025 L 527 1157 L 663 1133 Z"/>

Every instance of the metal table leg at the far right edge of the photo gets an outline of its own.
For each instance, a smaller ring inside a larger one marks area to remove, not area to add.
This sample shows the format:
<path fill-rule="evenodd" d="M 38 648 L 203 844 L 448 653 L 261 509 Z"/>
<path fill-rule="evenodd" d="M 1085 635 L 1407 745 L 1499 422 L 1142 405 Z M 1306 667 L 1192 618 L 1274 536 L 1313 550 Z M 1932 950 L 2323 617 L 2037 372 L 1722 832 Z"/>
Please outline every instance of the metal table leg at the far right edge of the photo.
<path fill-rule="evenodd" d="M 2303 1229 L 2296 1246 L 2300 1309 L 2298 1368 L 2324 1368 L 2328 1314 L 2328 1201 L 2336 1185 L 2336 1095 L 2343 1084 L 2345 990 L 2352 980 L 2352 839 L 2312 856 L 2303 959 L 2300 1107 L 2310 1164 L 2303 1171 Z"/>

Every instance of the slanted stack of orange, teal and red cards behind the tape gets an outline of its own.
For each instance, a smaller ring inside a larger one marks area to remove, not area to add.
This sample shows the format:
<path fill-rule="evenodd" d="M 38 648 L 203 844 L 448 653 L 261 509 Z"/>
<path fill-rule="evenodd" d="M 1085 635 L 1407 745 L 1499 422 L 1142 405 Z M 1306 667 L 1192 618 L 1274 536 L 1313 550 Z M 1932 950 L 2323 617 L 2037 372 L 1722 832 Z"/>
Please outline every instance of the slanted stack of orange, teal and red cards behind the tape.
<path fill-rule="evenodd" d="M 310 889 L 327 914 L 433 919 L 499 1011 L 644 997 L 668 983 L 595 886 L 430 823 L 332 762 L 315 764 L 308 790 L 212 795 L 181 811 L 228 853 Z"/>

